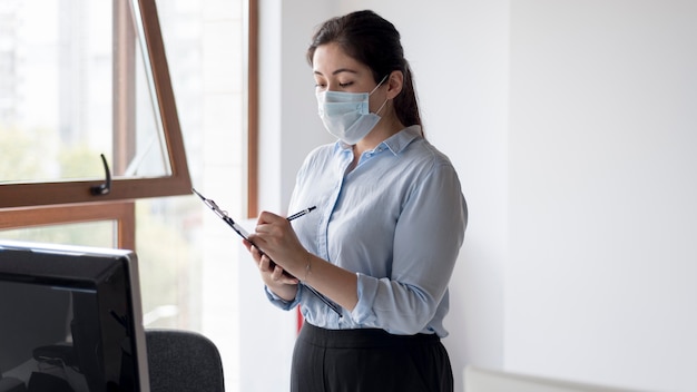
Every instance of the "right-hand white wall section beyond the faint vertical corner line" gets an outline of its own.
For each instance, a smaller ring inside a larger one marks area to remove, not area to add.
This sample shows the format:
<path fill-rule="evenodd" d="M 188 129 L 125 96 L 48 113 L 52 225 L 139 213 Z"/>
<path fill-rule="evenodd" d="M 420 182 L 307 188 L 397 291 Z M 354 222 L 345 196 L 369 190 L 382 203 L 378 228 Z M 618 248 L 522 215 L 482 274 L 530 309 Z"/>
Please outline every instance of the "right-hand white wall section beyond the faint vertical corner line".
<path fill-rule="evenodd" d="M 697 2 L 511 2 L 504 363 L 697 390 Z"/>

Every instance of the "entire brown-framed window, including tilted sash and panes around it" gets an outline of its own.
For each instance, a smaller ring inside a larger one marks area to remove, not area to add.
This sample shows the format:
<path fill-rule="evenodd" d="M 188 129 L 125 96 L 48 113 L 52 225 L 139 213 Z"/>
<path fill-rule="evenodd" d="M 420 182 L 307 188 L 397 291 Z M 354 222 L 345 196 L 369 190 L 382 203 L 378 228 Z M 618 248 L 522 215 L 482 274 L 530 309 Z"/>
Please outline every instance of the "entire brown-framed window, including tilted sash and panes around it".
<path fill-rule="evenodd" d="M 255 13 L 255 0 L 0 1 L 0 237 L 135 248 L 146 326 L 212 337 L 232 391 L 238 239 L 190 188 L 256 214 Z M 92 195 L 102 154 L 112 184 Z"/>

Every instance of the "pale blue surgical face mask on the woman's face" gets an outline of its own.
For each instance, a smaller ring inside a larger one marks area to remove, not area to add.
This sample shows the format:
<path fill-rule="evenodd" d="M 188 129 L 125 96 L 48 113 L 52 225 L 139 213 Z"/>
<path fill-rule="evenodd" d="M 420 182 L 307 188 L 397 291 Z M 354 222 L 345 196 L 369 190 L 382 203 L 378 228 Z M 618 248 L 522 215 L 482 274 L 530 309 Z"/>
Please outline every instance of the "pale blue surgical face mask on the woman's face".
<path fill-rule="evenodd" d="M 382 104 L 376 112 L 369 111 L 369 97 L 380 87 L 385 76 L 371 92 L 317 92 L 320 118 L 330 134 L 347 145 L 355 145 L 380 121 L 377 114 L 387 104 Z"/>

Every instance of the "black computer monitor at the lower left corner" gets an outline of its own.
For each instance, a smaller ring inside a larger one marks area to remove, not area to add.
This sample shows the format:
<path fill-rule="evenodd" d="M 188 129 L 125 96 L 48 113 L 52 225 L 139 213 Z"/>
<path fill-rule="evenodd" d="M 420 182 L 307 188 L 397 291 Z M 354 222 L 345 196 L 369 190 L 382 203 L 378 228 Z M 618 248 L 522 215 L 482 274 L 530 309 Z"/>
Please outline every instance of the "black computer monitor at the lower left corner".
<path fill-rule="evenodd" d="M 0 239 L 0 392 L 149 392 L 131 251 Z"/>

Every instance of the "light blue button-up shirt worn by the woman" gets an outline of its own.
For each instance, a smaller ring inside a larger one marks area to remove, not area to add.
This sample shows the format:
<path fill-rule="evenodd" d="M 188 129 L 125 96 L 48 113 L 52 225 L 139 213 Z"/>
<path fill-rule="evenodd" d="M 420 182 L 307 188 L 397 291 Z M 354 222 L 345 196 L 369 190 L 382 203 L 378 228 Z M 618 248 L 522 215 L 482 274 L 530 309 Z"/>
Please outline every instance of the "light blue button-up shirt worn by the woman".
<path fill-rule="evenodd" d="M 307 156 L 288 210 L 317 209 L 293 220 L 293 228 L 307 251 L 356 273 L 359 302 L 353 312 L 340 307 L 340 317 L 300 285 L 292 302 L 267 290 L 274 304 L 301 304 L 306 322 L 330 330 L 448 335 L 448 283 L 468 210 L 452 164 L 420 130 L 393 135 L 348 173 L 353 153 L 340 141 Z"/>

